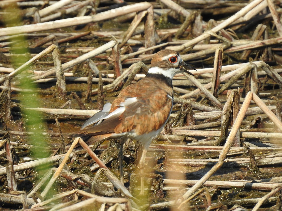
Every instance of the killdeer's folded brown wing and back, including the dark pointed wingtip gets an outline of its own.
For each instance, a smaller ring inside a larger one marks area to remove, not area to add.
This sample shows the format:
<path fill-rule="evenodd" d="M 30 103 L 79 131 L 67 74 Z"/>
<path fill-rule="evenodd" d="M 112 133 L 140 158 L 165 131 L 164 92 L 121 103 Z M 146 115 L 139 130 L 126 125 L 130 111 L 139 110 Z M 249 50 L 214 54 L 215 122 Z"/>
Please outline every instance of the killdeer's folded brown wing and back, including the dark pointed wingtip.
<path fill-rule="evenodd" d="M 151 80 L 140 80 L 125 87 L 113 101 L 109 115 L 98 125 L 84 129 L 76 134 L 82 136 L 101 135 L 109 133 L 124 133 L 135 129 L 137 134 L 158 130 L 168 119 L 172 107 L 172 88 L 168 90 L 160 87 Z M 136 98 L 130 100 L 128 98 Z M 119 113 L 121 104 L 125 111 Z M 119 110 L 118 110 L 119 109 Z"/>

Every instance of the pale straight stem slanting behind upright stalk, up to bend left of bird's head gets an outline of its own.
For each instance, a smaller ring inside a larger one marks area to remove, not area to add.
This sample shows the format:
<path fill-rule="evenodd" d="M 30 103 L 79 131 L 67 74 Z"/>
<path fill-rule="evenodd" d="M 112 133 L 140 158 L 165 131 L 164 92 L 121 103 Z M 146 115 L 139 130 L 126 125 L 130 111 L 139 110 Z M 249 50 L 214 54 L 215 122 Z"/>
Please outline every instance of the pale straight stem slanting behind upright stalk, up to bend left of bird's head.
<path fill-rule="evenodd" d="M 115 44 L 116 44 L 116 42 L 112 40 L 112 41 L 96 48 L 95 50 L 90 51 L 89 53 L 85 53 L 85 54 L 83 54 L 82 56 L 80 56 L 76 59 L 73 59 L 69 62 L 62 64 L 63 71 L 66 71 L 68 68 L 71 68 L 76 64 L 80 64 L 81 62 L 84 62 L 87 59 L 90 59 L 90 58 L 92 58 L 92 57 L 94 57 L 94 56 L 96 56 L 100 53 L 105 52 L 109 48 L 112 48 Z M 55 69 L 51 68 L 51 69 L 45 71 L 44 73 L 33 76 L 31 79 L 32 80 L 39 80 L 39 79 L 45 78 L 49 75 L 53 75 L 55 72 L 56 72 Z"/>

